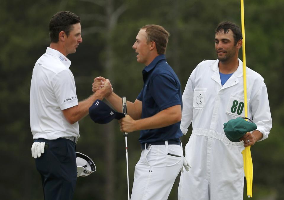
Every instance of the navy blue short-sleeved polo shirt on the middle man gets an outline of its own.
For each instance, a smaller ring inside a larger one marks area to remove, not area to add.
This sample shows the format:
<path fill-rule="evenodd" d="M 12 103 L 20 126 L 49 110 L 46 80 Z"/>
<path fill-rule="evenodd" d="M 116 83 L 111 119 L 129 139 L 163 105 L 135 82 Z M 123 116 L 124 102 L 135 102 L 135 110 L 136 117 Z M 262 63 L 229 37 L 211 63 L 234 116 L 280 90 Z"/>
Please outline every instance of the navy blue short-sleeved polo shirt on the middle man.
<path fill-rule="evenodd" d="M 143 88 L 137 99 L 142 101 L 141 118 L 151 117 L 174 105 L 182 106 L 180 81 L 164 54 L 157 56 L 143 71 Z M 140 131 L 139 142 L 176 140 L 183 136 L 180 122 L 159 129 Z"/>

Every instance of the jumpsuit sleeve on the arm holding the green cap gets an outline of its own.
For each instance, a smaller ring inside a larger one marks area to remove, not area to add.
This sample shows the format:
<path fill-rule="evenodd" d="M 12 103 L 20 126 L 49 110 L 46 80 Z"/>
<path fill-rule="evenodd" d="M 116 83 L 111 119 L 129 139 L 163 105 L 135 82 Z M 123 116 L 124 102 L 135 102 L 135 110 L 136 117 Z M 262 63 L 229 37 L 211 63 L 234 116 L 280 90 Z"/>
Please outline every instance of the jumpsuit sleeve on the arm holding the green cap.
<path fill-rule="evenodd" d="M 263 134 L 262 141 L 268 137 L 272 128 L 272 118 L 269 108 L 267 88 L 264 84 L 251 101 L 252 121 L 256 124 L 258 131 Z"/>

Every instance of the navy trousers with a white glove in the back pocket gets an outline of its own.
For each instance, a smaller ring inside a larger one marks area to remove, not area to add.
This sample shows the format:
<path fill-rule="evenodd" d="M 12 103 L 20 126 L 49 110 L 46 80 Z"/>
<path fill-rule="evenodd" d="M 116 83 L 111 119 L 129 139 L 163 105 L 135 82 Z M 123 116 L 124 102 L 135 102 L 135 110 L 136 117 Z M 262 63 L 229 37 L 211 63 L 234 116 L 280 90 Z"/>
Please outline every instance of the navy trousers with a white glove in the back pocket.
<path fill-rule="evenodd" d="M 75 142 L 69 139 L 35 139 L 45 142 L 41 157 L 35 159 L 35 165 L 41 174 L 45 200 L 71 200 L 77 180 Z"/>

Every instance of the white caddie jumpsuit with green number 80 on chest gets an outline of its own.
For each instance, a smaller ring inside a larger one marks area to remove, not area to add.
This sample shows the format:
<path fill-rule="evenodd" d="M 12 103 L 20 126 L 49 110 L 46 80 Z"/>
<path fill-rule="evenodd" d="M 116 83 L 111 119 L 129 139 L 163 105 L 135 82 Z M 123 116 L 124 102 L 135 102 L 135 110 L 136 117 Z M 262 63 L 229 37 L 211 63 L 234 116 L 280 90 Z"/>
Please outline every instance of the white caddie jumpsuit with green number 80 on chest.
<path fill-rule="evenodd" d="M 202 61 L 191 73 L 183 92 L 183 114 L 180 129 L 192 134 L 185 146 L 189 172 L 181 173 L 179 200 L 242 200 L 242 142 L 231 142 L 223 124 L 244 117 L 243 63 L 221 87 L 219 60 Z M 272 127 L 264 79 L 246 67 L 248 118 L 266 139 Z"/>

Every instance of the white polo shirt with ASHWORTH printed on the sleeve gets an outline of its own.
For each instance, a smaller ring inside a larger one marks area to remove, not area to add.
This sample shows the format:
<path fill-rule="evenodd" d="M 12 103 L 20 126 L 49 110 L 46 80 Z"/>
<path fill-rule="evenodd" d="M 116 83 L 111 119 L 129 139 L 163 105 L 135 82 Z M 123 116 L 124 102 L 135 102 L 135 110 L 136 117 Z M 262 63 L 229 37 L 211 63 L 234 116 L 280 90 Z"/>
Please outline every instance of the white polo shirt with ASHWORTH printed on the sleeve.
<path fill-rule="evenodd" d="M 71 61 L 47 48 L 35 63 L 30 85 L 30 128 L 33 139 L 79 137 L 78 122 L 70 124 L 62 110 L 78 105 Z"/>

